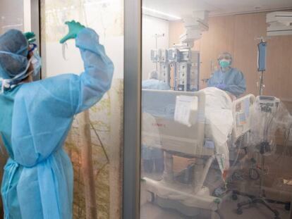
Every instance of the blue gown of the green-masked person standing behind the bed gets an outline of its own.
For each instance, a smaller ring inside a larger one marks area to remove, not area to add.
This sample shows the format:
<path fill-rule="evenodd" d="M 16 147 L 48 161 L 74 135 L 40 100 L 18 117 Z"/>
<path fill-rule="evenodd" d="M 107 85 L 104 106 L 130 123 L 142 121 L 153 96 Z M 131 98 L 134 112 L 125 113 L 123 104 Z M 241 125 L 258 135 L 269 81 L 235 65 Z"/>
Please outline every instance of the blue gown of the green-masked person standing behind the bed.
<path fill-rule="evenodd" d="M 234 96 L 241 96 L 246 90 L 246 83 L 243 73 L 236 68 L 230 68 L 226 72 L 217 70 L 208 81 L 208 87 L 217 87 L 219 84 L 225 84 L 226 92 Z"/>

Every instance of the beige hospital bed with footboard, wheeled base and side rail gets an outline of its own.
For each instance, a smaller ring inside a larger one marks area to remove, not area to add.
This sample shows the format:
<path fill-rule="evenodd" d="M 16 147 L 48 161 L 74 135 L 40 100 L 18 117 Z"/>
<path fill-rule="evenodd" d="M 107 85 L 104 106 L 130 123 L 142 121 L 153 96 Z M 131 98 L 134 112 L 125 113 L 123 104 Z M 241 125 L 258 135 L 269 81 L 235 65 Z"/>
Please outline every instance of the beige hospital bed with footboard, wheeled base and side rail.
<path fill-rule="evenodd" d="M 195 101 L 190 113 L 190 125 L 183 125 L 174 119 L 177 99 L 192 97 Z M 231 144 L 250 130 L 250 118 L 255 104 L 255 96 L 249 94 L 233 101 L 233 128 Z M 159 206 L 174 208 L 188 216 L 195 216 L 202 209 L 212 212 L 219 209 L 221 199 L 210 195 L 204 186 L 210 166 L 216 158 L 214 146 L 207 142 L 212 139 L 209 124 L 205 122 L 204 92 L 175 92 L 142 90 L 142 141 L 155 142 L 147 145 L 164 151 L 165 169 L 162 180 L 144 177 L 149 200 Z M 181 184 L 174 177 L 173 156 L 194 158 L 194 178 L 191 184 Z"/>

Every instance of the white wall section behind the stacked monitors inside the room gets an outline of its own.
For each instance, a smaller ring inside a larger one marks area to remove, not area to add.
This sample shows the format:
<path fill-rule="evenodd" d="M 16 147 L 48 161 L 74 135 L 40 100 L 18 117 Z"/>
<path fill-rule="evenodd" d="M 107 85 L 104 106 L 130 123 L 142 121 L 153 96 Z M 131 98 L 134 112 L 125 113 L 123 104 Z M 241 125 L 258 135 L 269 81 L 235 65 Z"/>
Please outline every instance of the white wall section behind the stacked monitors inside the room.
<path fill-rule="evenodd" d="M 162 35 L 157 39 L 158 49 L 169 48 L 169 21 L 159 18 L 142 16 L 142 79 L 146 80 L 148 74 L 155 69 L 155 64 L 152 63 L 150 52 L 155 49 L 155 35 Z"/>

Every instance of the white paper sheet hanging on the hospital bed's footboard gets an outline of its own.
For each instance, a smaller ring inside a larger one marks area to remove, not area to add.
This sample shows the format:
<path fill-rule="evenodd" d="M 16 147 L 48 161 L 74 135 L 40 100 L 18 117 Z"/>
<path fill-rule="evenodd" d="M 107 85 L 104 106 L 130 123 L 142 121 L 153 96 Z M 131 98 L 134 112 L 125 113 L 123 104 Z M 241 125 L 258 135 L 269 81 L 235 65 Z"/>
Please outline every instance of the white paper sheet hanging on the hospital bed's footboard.
<path fill-rule="evenodd" d="M 176 96 L 174 120 L 190 127 L 192 125 L 191 113 L 197 111 L 197 103 L 197 96 Z"/>

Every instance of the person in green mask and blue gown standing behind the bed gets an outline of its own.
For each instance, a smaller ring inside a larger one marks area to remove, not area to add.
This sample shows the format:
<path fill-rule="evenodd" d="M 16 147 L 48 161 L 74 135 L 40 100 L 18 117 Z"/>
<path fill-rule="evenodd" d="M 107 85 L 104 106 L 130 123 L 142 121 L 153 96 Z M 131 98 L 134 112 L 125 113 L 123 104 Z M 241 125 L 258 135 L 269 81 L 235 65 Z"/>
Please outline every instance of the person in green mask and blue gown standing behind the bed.
<path fill-rule="evenodd" d="M 240 70 L 232 68 L 232 56 L 228 52 L 219 55 L 219 70 L 208 81 L 208 87 L 217 87 L 233 96 L 241 96 L 246 90 L 245 77 Z"/>

